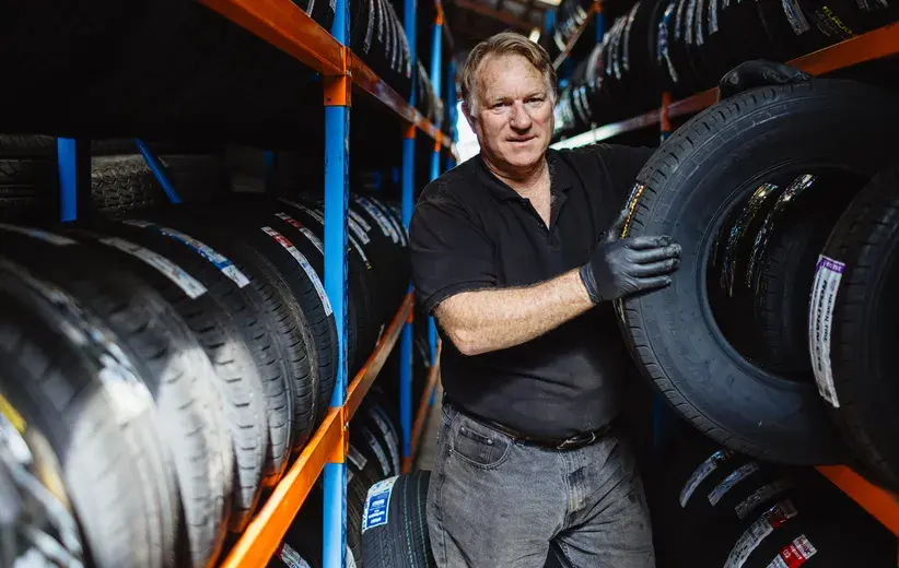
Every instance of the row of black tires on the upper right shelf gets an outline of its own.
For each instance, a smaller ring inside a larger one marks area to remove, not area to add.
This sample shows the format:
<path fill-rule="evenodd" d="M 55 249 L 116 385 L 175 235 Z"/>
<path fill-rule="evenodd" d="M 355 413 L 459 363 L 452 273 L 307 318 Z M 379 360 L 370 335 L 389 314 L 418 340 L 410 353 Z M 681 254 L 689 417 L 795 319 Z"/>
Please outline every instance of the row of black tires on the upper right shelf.
<path fill-rule="evenodd" d="M 575 67 L 554 138 L 657 108 L 663 92 L 684 98 L 713 87 L 744 61 L 787 61 L 897 19 L 899 9 L 882 2 L 801 1 L 787 12 L 768 0 L 639 0 Z"/>

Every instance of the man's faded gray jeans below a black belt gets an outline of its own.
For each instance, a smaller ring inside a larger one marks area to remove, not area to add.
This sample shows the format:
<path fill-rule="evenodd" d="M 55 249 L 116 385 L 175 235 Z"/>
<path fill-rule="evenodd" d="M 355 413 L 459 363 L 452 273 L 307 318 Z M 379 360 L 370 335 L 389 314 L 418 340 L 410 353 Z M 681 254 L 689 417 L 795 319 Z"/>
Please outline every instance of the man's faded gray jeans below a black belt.
<path fill-rule="evenodd" d="M 653 568 L 643 485 L 611 433 L 574 450 L 526 446 L 443 405 L 428 493 L 441 568 Z"/>

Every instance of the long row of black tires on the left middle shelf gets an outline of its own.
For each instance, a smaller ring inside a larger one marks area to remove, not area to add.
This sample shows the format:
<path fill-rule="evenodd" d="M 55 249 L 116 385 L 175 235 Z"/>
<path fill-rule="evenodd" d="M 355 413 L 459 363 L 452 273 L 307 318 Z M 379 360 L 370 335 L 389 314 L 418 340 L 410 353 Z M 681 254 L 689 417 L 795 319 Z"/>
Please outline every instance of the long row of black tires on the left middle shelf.
<path fill-rule="evenodd" d="M 235 194 L 214 210 L 0 224 L 0 474 L 50 518 L 15 554 L 119 568 L 207 566 L 224 552 L 329 403 L 320 216 L 316 199 Z M 409 273 L 389 204 L 354 196 L 351 217 L 354 371 Z M 369 401 L 357 415 L 357 443 L 380 436 L 372 462 L 389 464 L 360 471 L 367 481 L 398 473 L 384 407 Z"/>

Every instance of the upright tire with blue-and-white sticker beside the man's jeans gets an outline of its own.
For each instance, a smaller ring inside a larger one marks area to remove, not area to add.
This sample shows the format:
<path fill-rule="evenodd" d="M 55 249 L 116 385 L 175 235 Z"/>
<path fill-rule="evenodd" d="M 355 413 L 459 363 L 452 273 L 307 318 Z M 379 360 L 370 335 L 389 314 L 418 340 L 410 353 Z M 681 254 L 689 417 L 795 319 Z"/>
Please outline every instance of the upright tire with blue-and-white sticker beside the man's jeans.
<path fill-rule="evenodd" d="M 436 566 L 431 553 L 425 508 L 431 473 L 418 471 L 390 477 L 369 489 L 362 525 L 362 561 L 367 568 Z M 386 516 L 373 507 L 386 500 Z"/>

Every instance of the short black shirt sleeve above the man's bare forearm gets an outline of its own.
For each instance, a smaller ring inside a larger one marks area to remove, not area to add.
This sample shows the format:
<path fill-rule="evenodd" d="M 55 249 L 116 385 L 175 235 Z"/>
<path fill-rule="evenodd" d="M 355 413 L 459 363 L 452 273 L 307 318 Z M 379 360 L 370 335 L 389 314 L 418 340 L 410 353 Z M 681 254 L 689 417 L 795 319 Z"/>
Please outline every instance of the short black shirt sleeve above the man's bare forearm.
<path fill-rule="evenodd" d="M 409 241 L 416 295 L 428 313 L 454 294 L 497 285 L 493 245 L 454 197 L 423 192 Z"/>

